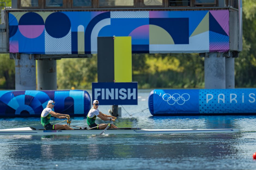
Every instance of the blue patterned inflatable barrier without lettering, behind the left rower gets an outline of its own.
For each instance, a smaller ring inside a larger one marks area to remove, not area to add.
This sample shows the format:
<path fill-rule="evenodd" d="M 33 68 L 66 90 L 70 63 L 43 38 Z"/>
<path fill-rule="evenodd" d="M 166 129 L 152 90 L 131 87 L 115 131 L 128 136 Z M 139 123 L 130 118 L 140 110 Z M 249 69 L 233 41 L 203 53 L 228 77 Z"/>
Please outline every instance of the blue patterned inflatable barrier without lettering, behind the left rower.
<path fill-rule="evenodd" d="M 40 117 L 49 100 L 53 111 L 70 116 L 86 116 L 91 98 L 83 90 L 0 91 L 0 117 Z"/>

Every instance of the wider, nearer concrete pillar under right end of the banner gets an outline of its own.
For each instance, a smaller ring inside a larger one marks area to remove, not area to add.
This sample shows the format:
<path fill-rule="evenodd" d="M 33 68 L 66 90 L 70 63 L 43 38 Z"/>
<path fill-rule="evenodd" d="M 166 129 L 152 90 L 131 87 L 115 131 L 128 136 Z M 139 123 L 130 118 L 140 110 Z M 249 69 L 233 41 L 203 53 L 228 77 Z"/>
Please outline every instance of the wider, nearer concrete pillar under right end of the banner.
<path fill-rule="evenodd" d="M 225 57 L 221 53 L 206 53 L 205 56 L 205 88 L 226 88 Z"/>

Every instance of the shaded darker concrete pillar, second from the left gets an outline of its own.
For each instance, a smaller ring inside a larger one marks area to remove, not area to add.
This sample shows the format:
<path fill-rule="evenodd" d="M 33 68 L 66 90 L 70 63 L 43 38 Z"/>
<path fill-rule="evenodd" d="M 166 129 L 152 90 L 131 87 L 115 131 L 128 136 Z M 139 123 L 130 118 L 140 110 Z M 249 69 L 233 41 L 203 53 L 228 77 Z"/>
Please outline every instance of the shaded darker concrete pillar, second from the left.
<path fill-rule="evenodd" d="M 57 62 L 54 59 L 37 60 L 37 89 L 57 90 Z"/>

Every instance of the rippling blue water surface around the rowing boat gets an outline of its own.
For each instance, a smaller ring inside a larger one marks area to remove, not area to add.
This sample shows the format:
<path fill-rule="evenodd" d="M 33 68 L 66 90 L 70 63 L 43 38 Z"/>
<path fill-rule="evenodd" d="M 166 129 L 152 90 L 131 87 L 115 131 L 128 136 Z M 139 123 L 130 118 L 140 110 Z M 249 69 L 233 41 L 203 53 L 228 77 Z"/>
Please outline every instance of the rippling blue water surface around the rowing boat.
<path fill-rule="evenodd" d="M 91 95 L 91 92 L 88 91 Z M 237 128 L 239 133 L 137 135 L 1 135 L 1 169 L 256 169 L 256 116 L 152 116 L 140 90 L 138 105 L 123 105 L 118 127 Z M 120 106 L 121 107 L 121 106 Z M 99 106 L 107 114 L 110 106 Z M 128 112 L 126 112 L 125 110 Z M 139 112 L 139 113 L 138 113 Z M 136 114 L 135 114 L 136 113 Z M 132 116 L 129 116 L 132 115 Z M 52 118 L 52 123 L 61 120 Z M 96 123 L 104 121 L 96 120 Z M 85 117 L 72 118 L 84 126 Z M 1 129 L 42 128 L 38 118 L 1 118 Z"/>

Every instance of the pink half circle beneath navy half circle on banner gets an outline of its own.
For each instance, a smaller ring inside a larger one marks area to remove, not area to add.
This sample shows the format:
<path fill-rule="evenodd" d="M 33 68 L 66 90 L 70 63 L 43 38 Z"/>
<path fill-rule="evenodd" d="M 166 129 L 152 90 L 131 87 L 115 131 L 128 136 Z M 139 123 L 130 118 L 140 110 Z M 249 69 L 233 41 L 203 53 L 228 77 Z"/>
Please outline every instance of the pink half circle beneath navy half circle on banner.
<path fill-rule="evenodd" d="M 42 34 L 44 25 L 19 25 L 19 30 L 24 37 L 33 39 Z"/>

